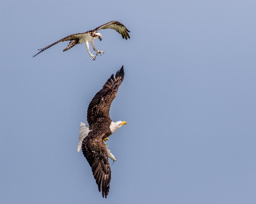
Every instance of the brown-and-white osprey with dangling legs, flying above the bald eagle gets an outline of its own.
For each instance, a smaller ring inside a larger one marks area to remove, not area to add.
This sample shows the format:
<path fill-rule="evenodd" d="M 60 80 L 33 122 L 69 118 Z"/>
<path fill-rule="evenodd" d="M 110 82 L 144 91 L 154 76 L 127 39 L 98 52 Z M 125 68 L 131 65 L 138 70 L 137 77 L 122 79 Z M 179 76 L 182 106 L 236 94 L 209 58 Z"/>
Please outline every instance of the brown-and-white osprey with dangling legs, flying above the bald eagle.
<path fill-rule="evenodd" d="M 65 52 L 66 50 L 74 47 L 77 44 L 86 43 L 87 52 L 91 56 L 92 60 L 95 60 L 96 57 L 94 55 L 92 55 L 92 53 L 90 53 L 89 42 L 91 42 L 93 50 L 95 52 L 97 52 L 96 55 L 104 54 L 104 51 L 100 51 L 100 50 L 95 48 L 94 41 L 93 41 L 96 38 L 98 38 L 100 41 L 102 40 L 102 35 L 97 32 L 100 29 L 114 29 L 116 32 L 118 32 L 118 33 L 120 33 L 122 35 L 123 39 L 124 38 L 125 38 L 125 40 L 127 40 L 127 38 L 130 39 L 130 35 L 128 33 L 130 31 L 122 23 L 117 22 L 117 21 L 111 21 L 111 22 L 108 22 L 106 24 L 101 25 L 100 27 L 98 27 L 98 28 L 96 28 L 94 30 L 87 31 L 85 33 L 77 33 L 77 34 L 69 35 L 69 36 L 67 36 L 65 38 L 62 38 L 62 39 L 58 40 L 57 42 L 54 42 L 54 43 L 48 45 L 45 48 L 38 49 L 38 50 L 40 50 L 39 53 L 41 53 L 42 51 L 48 49 L 49 47 L 51 47 L 51 46 L 53 46 L 53 45 L 55 45 L 55 44 L 57 44 L 59 42 L 70 41 L 69 45 L 65 49 L 63 49 L 63 52 Z M 33 57 L 37 56 L 39 53 L 37 53 Z"/>

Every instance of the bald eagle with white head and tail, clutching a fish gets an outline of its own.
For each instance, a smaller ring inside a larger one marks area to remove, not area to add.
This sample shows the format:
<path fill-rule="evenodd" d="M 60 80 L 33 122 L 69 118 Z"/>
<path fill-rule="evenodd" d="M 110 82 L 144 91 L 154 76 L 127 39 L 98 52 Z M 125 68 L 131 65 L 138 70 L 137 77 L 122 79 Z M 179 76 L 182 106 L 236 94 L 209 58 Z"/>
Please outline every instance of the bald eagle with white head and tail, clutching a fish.
<path fill-rule="evenodd" d="M 93 172 L 94 179 L 98 185 L 102 197 L 109 194 L 111 169 L 108 157 L 116 161 L 110 150 L 106 147 L 105 141 L 116 132 L 119 127 L 126 124 L 125 121 L 113 122 L 110 118 L 110 106 L 117 95 L 119 86 L 124 78 L 123 66 L 112 74 L 102 89 L 96 93 L 89 104 L 87 111 L 88 125 L 81 122 L 80 136 L 77 151 L 82 148 L 83 156 L 87 159 Z"/>

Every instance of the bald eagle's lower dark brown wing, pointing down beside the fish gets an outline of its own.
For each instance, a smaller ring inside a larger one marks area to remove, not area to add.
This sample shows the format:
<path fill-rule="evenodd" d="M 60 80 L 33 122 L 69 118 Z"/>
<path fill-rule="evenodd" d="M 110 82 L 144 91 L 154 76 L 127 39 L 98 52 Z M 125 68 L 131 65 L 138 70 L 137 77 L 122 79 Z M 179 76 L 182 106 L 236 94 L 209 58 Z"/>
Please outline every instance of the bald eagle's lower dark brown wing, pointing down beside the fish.
<path fill-rule="evenodd" d="M 111 169 L 108 159 L 108 148 L 103 145 L 101 139 L 97 140 L 94 135 L 103 134 L 90 131 L 88 136 L 84 138 L 82 142 L 83 156 L 86 157 L 93 172 L 94 179 L 98 185 L 99 192 L 101 190 L 102 197 L 109 194 L 110 181 L 111 181 Z"/>

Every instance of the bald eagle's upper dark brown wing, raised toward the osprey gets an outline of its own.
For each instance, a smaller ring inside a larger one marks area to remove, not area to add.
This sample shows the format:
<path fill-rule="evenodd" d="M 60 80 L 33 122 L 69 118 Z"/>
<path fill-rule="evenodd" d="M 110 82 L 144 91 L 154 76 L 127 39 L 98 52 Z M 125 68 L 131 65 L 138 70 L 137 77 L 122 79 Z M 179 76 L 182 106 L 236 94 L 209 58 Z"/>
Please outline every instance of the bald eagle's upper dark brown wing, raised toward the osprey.
<path fill-rule="evenodd" d="M 87 121 L 89 126 L 94 124 L 97 121 L 97 118 L 110 118 L 110 106 L 117 95 L 118 88 L 121 85 L 123 78 L 124 70 L 122 66 L 121 69 L 116 72 L 115 77 L 114 74 L 112 74 L 111 78 L 106 81 L 102 89 L 93 97 L 87 111 Z"/>

